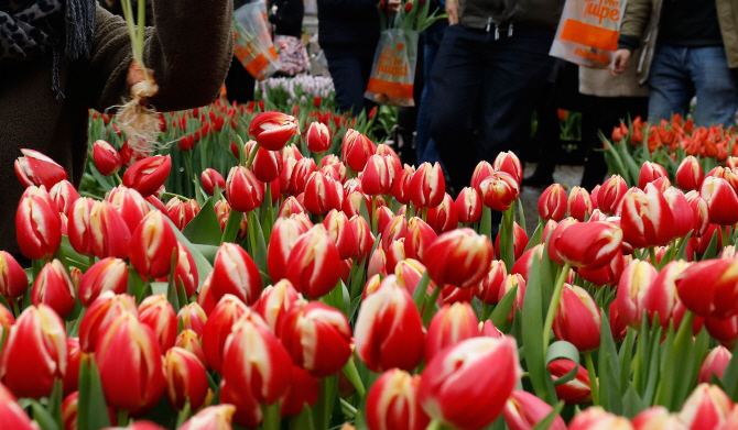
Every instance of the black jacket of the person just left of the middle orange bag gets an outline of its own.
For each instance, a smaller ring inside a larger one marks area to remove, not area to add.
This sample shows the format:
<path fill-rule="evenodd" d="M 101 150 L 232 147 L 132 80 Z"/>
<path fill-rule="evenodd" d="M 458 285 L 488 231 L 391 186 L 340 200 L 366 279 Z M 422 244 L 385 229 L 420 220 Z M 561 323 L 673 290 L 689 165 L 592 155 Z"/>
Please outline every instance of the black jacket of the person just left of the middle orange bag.
<path fill-rule="evenodd" d="M 317 0 L 318 43 L 323 47 L 377 47 L 379 0 Z"/>

